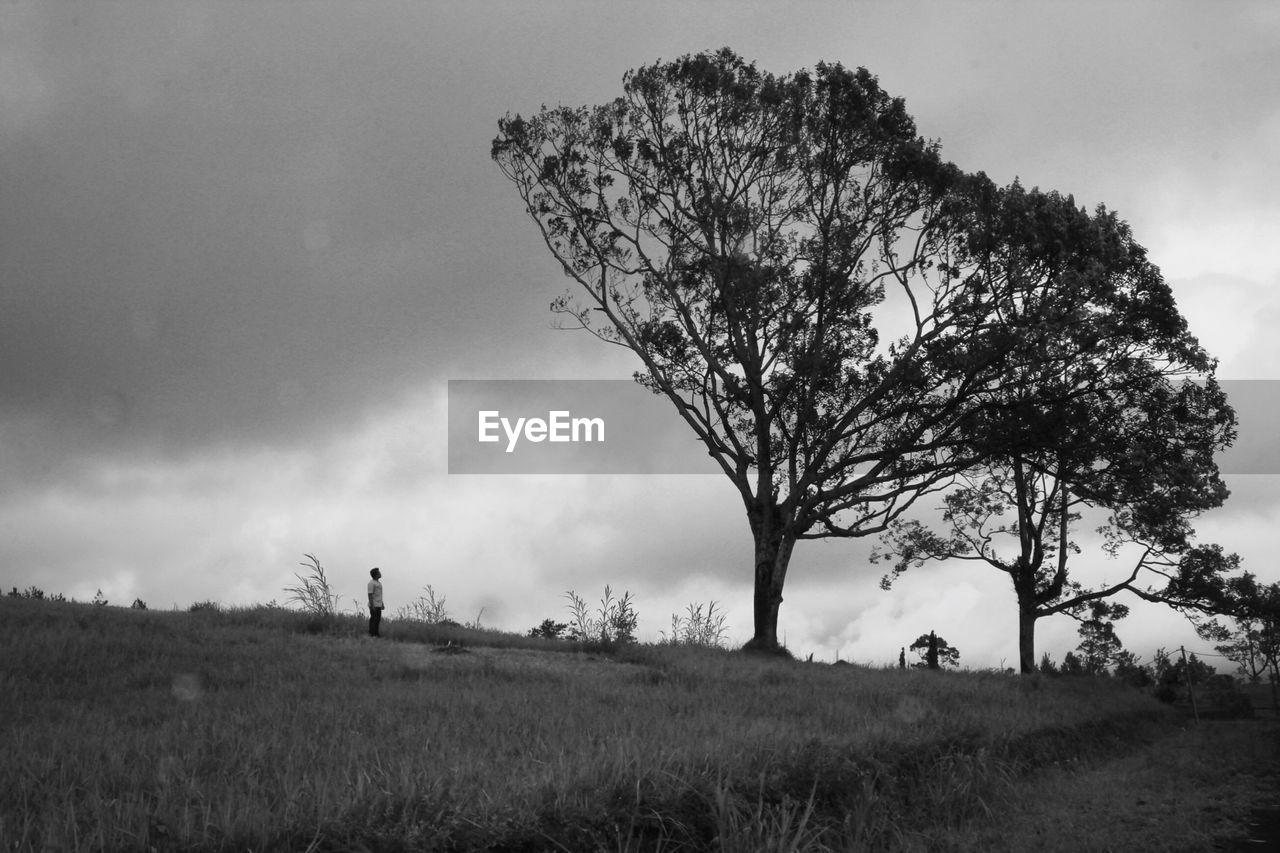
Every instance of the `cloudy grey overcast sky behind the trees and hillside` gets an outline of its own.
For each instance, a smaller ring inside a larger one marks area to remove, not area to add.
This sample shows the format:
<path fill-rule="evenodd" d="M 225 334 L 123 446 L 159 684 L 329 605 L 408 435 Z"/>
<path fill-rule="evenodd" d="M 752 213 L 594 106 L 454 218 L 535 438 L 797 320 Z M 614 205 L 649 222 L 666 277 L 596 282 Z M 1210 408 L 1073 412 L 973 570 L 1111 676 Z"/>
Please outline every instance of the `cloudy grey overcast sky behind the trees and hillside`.
<path fill-rule="evenodd" d="M 497 119 L 726 45 L 776 73 L 865 65 L 961 168 L 1105 202 L 1219 375 L 1280 378 L 1270 1 L 5 4 L 0 584 L 283 602 L 310 552 L 348 608 L 379 565 L 389 612 L 431 584 L 460 620 L 524 631 L 611 584 L 643 638 L 709 599 L 749 638 L 726 479 L 449 475 L 445 447 L 449 379 L 636 366 L 552 328 L 567 280 L 489 159 Z M 1201 539 L 1280 579 L 1280 478 L 1228 482 Z M 881 663 L 934 629 L 965 663 L 1014 665 L 1002 576 L 882 592 L 869 547 L 797 547 L 794 651 Z M 1140 656 L 1207 648 L 1130 603 Z M 1075 643 L 1041 622 L 1055 657 Z"/>

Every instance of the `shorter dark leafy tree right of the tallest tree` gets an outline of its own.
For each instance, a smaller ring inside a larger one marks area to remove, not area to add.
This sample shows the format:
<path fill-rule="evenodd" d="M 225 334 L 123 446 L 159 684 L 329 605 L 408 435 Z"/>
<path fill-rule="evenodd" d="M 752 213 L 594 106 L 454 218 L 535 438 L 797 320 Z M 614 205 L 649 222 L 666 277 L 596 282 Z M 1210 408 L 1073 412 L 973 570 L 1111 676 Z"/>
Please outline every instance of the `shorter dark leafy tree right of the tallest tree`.
<path fill-rule="evenodd" d="M 1000 324 L 1019 346 L 1043 357 L 1021 360 L 1019 382 L 984 392 L 989 405 L 966 425 L 982 464 L 945 496 L 941 532 L 913 519 L 886 533 L 896 562 L 882 584 L 928 560 L 1005 573 L 1020 667 L 1030 672 L 1044 616 L 1079 616 L 1121 590 L 1213 606 L 1204 593 L 1235 560 L 1194 546 L 1190 521 L 1228 496 L 1213 456 L 1234 438 L 1235 416 L 1215 362 L 1114 213 L 980 177 L 966 199 L 968 275 L 996 295 Z M 1105 549 L 1132 561 L 1111 583 L 1071 579 L 1079 548 L 1070 529 L 1084 512 L 1102 515 Z"/>

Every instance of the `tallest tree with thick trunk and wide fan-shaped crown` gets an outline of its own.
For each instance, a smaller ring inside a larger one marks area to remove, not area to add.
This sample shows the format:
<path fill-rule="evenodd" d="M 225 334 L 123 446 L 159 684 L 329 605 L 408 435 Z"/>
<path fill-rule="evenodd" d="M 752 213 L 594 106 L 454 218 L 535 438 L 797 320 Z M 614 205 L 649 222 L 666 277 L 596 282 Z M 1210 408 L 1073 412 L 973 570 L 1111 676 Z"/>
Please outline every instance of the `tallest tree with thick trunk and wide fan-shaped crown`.
<path fill-rule="evenodd" d="M 797 540 L 878 533 L 973 462 L 1009 350 L 954 269 L 961 175 L 865 69 L 657 63 L 506 117 L 493 158 L 576 283 L 553 310 L 634 351 L 736 488 L 749 647 L 778 647 Z"/>

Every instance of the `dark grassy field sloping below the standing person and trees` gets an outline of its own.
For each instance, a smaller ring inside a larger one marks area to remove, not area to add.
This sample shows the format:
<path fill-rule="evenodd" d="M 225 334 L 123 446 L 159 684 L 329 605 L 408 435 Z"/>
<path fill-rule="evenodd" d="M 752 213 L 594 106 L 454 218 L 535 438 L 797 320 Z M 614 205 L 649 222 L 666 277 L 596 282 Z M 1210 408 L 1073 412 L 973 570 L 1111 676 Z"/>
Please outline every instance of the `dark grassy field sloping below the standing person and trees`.
<path fill-rule="evenodd" d="M 1212 849 L 1276 736 L 1106 680 L 388 628 L 0 599 L 0 848 Z M 1082 841 L 1135 779 L 1167 838 Z"/>

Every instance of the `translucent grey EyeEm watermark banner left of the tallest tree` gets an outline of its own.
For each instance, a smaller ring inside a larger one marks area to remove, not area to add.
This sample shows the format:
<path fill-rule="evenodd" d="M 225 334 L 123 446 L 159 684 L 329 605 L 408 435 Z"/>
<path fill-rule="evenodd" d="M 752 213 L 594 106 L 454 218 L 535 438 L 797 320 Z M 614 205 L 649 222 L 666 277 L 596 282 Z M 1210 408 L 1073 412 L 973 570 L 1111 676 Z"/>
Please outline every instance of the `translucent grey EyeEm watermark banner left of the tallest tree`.
<path fill-rule="evenodd" d="M 631 379 L 451 379 L 449 474 L 717 474 L 666 397 Z"/>

